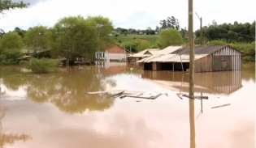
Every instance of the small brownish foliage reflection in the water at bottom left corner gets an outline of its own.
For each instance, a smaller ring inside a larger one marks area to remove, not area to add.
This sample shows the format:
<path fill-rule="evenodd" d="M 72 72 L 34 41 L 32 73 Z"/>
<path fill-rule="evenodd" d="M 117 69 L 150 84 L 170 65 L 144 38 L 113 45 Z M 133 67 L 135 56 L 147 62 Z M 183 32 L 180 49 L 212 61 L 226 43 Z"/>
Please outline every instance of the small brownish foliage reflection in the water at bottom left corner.
<path fill-rule="evenodd" d="M 27 134 L 19 134 L 19 133 L 2 133 L 2 118 L 5 116 L 5 112 L 7 112 L 7 108 L 2 108 L 0 106 L 0 147 L 3 147 L 7 144 L 13 144 L 15 141 L 23 141 L 32 139 L 32 137 Z"/>

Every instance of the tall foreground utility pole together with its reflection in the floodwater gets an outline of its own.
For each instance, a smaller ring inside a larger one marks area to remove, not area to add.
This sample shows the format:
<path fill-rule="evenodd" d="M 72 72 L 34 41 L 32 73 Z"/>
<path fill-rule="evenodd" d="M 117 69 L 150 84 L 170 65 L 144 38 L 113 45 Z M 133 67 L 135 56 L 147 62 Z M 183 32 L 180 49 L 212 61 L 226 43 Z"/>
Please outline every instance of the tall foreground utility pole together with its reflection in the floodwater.
<path fill-rule="evenodd" d="M 193 43 L 193 0 L 189 0 L 189 125 L 190 148 L 196 147 L 194 116 L 194 43 Z"/>

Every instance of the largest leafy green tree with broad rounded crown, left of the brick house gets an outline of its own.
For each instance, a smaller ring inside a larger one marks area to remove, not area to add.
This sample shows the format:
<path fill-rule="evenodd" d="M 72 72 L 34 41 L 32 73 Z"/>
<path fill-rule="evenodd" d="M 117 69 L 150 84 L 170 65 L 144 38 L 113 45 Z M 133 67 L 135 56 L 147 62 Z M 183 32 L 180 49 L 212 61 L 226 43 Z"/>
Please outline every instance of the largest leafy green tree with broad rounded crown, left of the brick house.
<path fill-rule="evenodd" d="M 98 35 L 95 22 L 82 16 L 65 17 L 52 29 L 51 48 L 62 53 L 69 65 L 74 65 L 79 57 L 93 58 L 98 50 L 98 36 L 102 35 Z"/>

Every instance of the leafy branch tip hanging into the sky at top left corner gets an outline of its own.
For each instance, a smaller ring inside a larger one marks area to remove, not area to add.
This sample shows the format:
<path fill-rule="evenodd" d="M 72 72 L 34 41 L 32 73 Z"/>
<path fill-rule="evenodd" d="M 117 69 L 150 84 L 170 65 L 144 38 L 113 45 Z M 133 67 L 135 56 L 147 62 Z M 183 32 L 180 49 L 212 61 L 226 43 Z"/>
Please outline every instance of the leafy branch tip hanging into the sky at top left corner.
<path fill-rule="evenodd" d="M 12 2 L 11 0 L 2 0 L 0 1 L 0 13 L 2 11 L 9 11 L 15 8 L 25 8 L 29 5 L 29 3 L 20 2 Z"/>

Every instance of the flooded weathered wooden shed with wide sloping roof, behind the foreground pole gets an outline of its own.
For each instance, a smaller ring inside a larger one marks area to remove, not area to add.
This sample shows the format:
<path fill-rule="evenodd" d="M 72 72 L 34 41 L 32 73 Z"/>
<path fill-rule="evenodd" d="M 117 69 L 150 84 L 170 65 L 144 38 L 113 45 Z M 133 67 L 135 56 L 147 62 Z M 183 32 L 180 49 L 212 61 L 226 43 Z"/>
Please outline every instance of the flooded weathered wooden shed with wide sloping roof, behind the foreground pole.
<path fill-rule="evenodd" d="M 195 46 L 195 72 L 241 70 L 241 52 L 229 45 Z M 189 46 L 142 59 L 144 70 L 189 70 Z"/>

